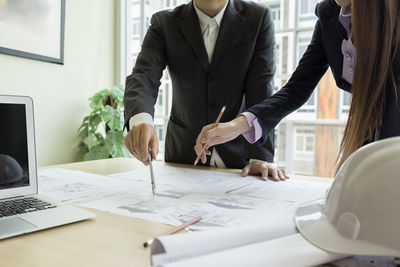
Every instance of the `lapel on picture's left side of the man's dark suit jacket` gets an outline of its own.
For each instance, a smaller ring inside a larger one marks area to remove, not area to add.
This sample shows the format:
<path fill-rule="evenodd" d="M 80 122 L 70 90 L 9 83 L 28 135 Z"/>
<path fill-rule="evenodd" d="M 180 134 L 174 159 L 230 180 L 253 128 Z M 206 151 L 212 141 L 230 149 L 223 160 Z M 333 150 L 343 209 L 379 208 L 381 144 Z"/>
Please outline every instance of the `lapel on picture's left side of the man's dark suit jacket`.
<path fill-rule="evenodd" d="M 204 46 L 199 19 L 192 2 L 187 4 L 182 10 L 181 20 L 178 24 L 184 38 L 192 47 L 204 69 L 208 71 L 210 64 L 208 62 L 207 50 Z"/>

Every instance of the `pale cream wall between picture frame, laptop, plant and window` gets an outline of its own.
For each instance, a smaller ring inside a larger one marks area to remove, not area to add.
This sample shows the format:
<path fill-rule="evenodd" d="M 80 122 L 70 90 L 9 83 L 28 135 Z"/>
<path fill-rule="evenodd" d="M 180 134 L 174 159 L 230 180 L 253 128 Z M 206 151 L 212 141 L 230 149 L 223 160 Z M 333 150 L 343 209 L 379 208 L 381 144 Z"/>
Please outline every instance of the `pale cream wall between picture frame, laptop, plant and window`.
<path fill-rule="evenodd" d="M 34 100 L 39 166 L 78 159 L 87 99 L 115 81 L 115 1 L 66 0 L 65 13 L 64 65 L 0 54 L 0 94 Z"/>

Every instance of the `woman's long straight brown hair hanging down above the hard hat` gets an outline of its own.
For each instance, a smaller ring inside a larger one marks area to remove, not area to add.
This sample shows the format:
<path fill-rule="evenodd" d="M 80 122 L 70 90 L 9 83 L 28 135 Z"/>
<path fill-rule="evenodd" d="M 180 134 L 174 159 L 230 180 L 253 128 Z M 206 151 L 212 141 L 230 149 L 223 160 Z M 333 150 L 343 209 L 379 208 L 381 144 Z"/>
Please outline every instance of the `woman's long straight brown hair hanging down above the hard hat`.
<path fill-rule="evenodd" d="M 393 63 L 400 45 L 399 0 L 352 0 L 356 64 L 352 100 L 337 169 L 382 125 L 387 86 L 397 86 Z"/>

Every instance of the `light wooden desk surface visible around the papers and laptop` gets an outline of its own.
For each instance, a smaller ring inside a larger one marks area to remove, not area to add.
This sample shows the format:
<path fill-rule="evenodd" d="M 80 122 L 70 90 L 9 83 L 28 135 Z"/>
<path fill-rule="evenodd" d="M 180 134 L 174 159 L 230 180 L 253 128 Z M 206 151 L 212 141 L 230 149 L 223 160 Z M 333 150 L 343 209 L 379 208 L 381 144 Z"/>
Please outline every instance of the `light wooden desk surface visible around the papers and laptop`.
<path fill-rule="evenodd" d="M 128 158 L 45 168 L 56 167 L 102 175 L 144 168 L 139 161 Z M 316 177 L 296 178 L 327 181 Z M 0 266 L 150 266 L 149 249 L 143 248 L 143 242 L 172 228 L 161 223 L 88 210 L 95 213 L 96 218 L 0 241 Z"/>

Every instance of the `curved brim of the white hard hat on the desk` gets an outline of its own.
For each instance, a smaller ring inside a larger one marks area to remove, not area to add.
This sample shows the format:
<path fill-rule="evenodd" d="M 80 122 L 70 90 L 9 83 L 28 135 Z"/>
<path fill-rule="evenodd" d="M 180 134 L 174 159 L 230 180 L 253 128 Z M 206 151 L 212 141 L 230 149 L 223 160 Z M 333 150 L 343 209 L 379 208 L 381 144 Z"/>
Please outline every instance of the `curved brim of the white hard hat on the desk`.
<path fill-rule="evenodd" d="M 358 256 L 399 257 L 400 252 L 340 234 L 324 215 L 324 201 L 319 200 L 299 207 L 295 222 L 302 236 L 313 245 L 333 253 Z"/>

